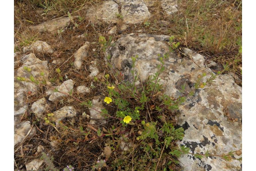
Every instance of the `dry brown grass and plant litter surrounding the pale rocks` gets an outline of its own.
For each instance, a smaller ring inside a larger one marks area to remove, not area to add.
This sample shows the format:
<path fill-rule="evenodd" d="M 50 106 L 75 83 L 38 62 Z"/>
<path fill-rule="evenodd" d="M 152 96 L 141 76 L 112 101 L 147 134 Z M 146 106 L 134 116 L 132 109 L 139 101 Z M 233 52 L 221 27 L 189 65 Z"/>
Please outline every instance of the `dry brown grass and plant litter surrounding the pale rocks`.
<path fill-rule="evenodd" d="M 53 0 L 51 2 L 47 0 L 15 0 L 14 2 L 15 41 L 19 41 L 16 50 L 36 40 L 46 41 L 51 44 L 55 49 L 55 53 L 52 55 L 36 54 L 36 56 L 42 60 L 49 61 L 51 69 L 49 78 L 52 79 L 53 85 L 60 84 L 60 82 L 54 80 L 54 78 L 58 78 L 55 72 L 55 69 L 58 67 L 61 67 L 63 75 L 66 75 L 75 82 L 74 90 L 76 90 L 76 87 L 79 85 L 90 86 L 92 81 L 88 78 L 88 66 L 90 65 L 90 61 L 97 60 L 100 72 L 107 72 L 104 56 L 100 52 L 100 46 L 97 41 L 99 35 L 103 35 L 107 40 L 109 39 L 107 31 L 113 24 L 99 23 L 91 25 L 86 17 L 84 17 L 86 13 L 85 9 L 91 4 L 97 3 L 98 0 Z M 179 12 L 173 16 L 168 16 L 161 9 L 159 1 L 155 1 L 153 6 L 149 7 L 149 11 L 152 14 L 152 17 L 148 20 L 151 23 L 149 27 L 145 27 L 144 23 L 136 26 L 128 25 L 126 31 L 118 31 L 113 36 L 112 40 L 118 39 L 118 37 L 123 34 L 136 32 L 140 29 L 142 33 L 147 34 L 174 35 L 176 41 L 179 41 L 181 45 L 200 52 L 205 55 L 207 59 L 213 59 L 219 64 L 228 63 L 231 68 L 230 72 L 237 76 L 236 81 L 241 84 L 239 67 L 242 66 L 242 56 L 238 55 L 242 37 L 242 4 L 240 4 L 240 1 L 189 0 L 186 2 L 178 1 L 178 5 Z M 65 30 L 61 35 L 32 33 L 28 30 L 28 27 L 31 25 L 67 15 L 67 12 L 70 12 L 71 15 L 83 17 L 82 20 L 75 21 L 78 24 L 78 28 L 73 29 L 71 26 L 71 29 Z M 159 22 L 161 20 L 166 21 L 166 23 Z M 121 26 L 121 23 L 122 21 L 117 24 L 118 28 Z M 22 34 L 23 32 L 26 34 Z M 75 36 L 84 33 L 86 33 L 86 38 L 75 38 Z M 85 41 L 91 42 L 88 51 L 89 58 L 84 62 L 84 68 L 76 70 L 72 66 L 73 58 L 69 59 L 69 57 L 73 55 Z M 96 50 L 93 51 L 92 49 Z M 55 59 L 62 59 L 63 61 L 69 60 L 62 66 L 52 64 L 51 62 Z M 20 65 L 16 66 L 16 68 L 19 66 Z M 89 95 L 74 95 L 81 101 L 85 101 L 97 95 L 104 96 L 104 94 L 107 94 L 105 92 L 106 88 L 100 83 L 94 82 L 94 86 L 96 88 L 92 89 Z M 44 90 L 45 89 L 42 88 L 37 95 L 29 96 L 29 109 L 33 102 L 44 97 Z M 64 106 L 74 106 L 79 113 L 77 117 L 63 121 L 64 127 L 58 128 L 60 133 L 57 132 L 55 128 L 45 125 L 43 120 L 38 121 L 31 111 L 27 111 L 24 120 L 35 123 L 44 133 L 37 131 L 36 136 L 25 141 L 23 156 L 20 150 L 14 154 L 16 163 L 14 164 L 15 169 L 25 169 L 26 162 L 40 158 L 40 154 L 36 153 L 38 145 L 43 145 L 44 152 L 54 156 L 54 165 L 59 169 L 66 167 L 68 164 L 74 166 L 76 170 L 90 169 L 98 158 L 103 155 L 102 152 L 104 151 L 105 144 L 115 147 L 109 158 L 107 158 L 107 163 L 114 163 L 113 167 L 109 165 L 107 167 L 108 169 L 115 168 L 121 170 L 124 169 L 123 166 L 125 165 L 139 165 L 139 162 L 143 163 L 143 161 L 139 159 L 140 153 L 138 151 L 140 146 L 134 146 L 132 151 L 123 152 L 118 150 L 119 144 L 113 135 L 106 137 L 104 136 L 106 132 L 102 131 L 103 136 L 98 136 L 93 128 L 88 127 L 88 120 L 82 117 L 83 112 L 89 113 L 88 109 L 80 106 L 79 103 L 72 98 L 65 97 L 62 100 L 51 103 L 50 110 L 47 112 L 54 112 Z M 109 108 L 108 111 L 111 112 L 111 108 Z M 118 128 L 117 122 L 108 119 L 104 129 L 111 131 L 112 126 Z M 81 127 L 83 130 L 81 130 Z M 95 129 L 97 129 L 96 126 Z M 88 136 L 84 134 L 84 132 L 91 134 Z M 120 134 L 120 132 L 129 133 L 130 130 L 120 128 L 112 133 Z M 114 139 L 114 141 L 110 139 Z M 56 150 L 51 148 L 50 140 L 57 141 L 58 145 Z M 30 146 L 30 144 L 32 144 L 32 146 Z M 123 163 L 119 163 L 121 160 Z M 156 159 L 156 161 L 146 164 L 148 164 L 148 168 L 150 168 L 151 165 L 158 161 L 159 160 Z M 161 163 L 159 163 L 159 165 L 161 165 Z M 173 169 L 175 169 L 175 167 L 175 165 L 172 165 Z"/>

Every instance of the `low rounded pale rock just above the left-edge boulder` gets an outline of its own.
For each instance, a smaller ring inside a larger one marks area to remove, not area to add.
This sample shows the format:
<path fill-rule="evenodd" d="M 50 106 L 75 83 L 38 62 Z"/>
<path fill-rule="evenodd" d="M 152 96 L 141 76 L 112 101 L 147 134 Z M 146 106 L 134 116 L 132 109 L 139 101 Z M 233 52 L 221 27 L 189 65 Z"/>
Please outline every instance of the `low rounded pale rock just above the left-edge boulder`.
<path fill-rule="evenodd" d="M 54 49 L 48 43 L 43 41 L 36 41 L 35 43 L 23 47 L 23 53 L 34 52 L 34 53 L 53 53 Z"/>

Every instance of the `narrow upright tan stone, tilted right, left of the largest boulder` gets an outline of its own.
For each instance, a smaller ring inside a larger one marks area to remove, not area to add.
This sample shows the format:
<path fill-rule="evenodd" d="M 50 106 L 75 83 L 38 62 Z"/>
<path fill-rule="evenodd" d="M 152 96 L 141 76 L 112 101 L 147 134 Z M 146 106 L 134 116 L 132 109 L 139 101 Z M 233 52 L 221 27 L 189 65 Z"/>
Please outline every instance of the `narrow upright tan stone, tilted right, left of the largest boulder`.
<path fill-rule="evenodd" d="M 74 54 L 74 66 L 75 69 L 80 69 L 83 63 L 83 60 L 85 60 L 88 57 L 88 48 L 89 48 L 89 42 L 84 43 L 83 46 L 81 46 Z"/>

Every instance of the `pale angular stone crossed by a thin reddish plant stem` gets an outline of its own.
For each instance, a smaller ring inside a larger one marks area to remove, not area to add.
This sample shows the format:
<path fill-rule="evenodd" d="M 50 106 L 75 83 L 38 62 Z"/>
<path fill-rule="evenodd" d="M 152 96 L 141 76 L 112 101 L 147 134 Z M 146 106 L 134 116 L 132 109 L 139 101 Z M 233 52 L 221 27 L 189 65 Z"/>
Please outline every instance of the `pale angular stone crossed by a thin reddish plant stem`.
<path fill-rule="evenodd" d="M 67 94 L 73 89 L 73 86 L 74 86 L 74 81 L 69 79 L 69 80 L 64 81 L 60 86 L 55 87 L 60 92 L 54 92 L 53 90 L 47 90 L 46 95 L 47 96 L 50 95 L 48 100 L 54 102 L 60 97 L 68 96 Z M 61 92 L 67 93 L 67 94 L 63 94 Z"/>

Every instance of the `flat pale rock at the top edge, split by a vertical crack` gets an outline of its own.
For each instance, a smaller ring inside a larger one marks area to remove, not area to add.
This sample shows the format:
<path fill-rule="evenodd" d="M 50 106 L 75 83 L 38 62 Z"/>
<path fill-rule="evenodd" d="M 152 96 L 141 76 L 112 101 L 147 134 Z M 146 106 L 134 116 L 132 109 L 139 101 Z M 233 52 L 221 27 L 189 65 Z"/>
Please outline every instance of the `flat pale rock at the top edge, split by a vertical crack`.
<path fill-rule="evenodd" d="M 150 12 L 143 0 L 120 0 L 118 2 L 120 6 L 114 1 L 103 1 L 99 6 L 91 7 L 88 10 L 89 19 L 93 22 L 103 20 L 116 23 L 117 14 L 121 12 L 124 23 L 134 24 L 141 23 L 150 17 Z"/>

